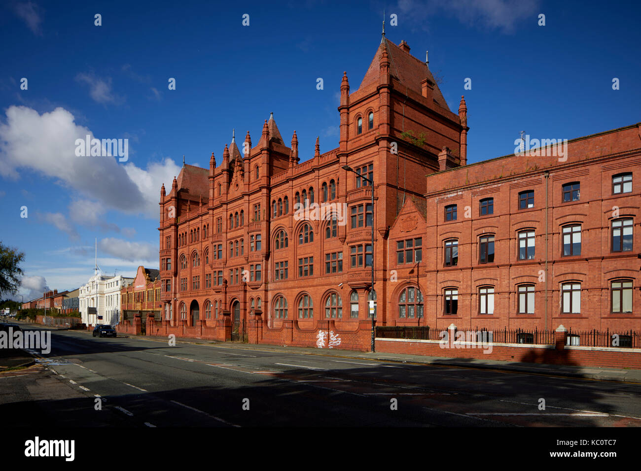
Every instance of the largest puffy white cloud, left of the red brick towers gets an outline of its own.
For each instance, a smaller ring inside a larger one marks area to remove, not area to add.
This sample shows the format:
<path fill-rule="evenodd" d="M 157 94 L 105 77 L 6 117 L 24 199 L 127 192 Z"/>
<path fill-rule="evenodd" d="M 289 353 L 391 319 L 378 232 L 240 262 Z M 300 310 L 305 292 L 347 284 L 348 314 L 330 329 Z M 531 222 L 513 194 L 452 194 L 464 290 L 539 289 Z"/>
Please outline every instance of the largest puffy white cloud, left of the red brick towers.
<path fill-rule="evenodd" d="M 104 210 L 158 217 L 160 186 L 171 186 L 180 167 L 170 158 L 142 169 L 131 161 L 120 165 L 115 157 L 77 157 L 76 139 L 87 135 L 94 138 L 63 108 L 40 115 L 26 106 L 10 106 L 6 123 L 0 122 L 0 175 L 18 179 L 22 169 L 39 172 L 87 197 L 91 208 L 100 204 Z M 93 218 L 88 212 L 83 214 Z"/>

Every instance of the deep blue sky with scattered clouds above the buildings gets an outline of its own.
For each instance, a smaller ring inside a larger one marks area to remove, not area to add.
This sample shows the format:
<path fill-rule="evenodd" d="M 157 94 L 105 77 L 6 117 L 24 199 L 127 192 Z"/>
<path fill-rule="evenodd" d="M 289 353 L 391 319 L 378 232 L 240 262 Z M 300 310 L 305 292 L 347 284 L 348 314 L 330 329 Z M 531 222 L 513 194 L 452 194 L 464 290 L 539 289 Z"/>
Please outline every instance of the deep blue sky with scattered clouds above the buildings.
<path fill-rule="evenodd" d="M 356 90 L 384 8 L 390 40 L 421 59 L 429 49 L 454 112 L 465 94 L 469 162 L 513 153 L 522 130 L 569 139 L 641 121 L 637 3 L 10 0 L 0 6 L 0 239 L 26 254 L 20 293 L 86 283 L 95 239 L 107 274 L 157 268 L 161 183 L 183 154 L 220 163 L 232 128 L 257 142 L 274 112 L 287 142 L 296 129 L 301 161 L 316 136 L 321 152 L 337 147 L 342 72 Z M 74 156 L 70 142 L 87 131 L 128 138 L 128 161 Z"/>

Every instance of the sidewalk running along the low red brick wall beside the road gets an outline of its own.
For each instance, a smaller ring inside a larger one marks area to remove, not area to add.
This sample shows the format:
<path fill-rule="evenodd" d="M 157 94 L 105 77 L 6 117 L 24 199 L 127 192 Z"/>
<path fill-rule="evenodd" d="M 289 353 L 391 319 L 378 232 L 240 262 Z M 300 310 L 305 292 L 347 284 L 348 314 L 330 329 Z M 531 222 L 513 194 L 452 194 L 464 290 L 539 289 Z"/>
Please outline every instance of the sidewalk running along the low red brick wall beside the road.
<path fill-rule="evenodd" d="M 157 342 L 167 342 L 167 337 L 140 336 Z M 178 343 L 194 343 L 199 345 L 217 345 L 228 349 L 244 349 L 263 352 L 303 353 L 310 355 L 333 356 L 340 358 L 360 358 L 379 361 L 397 361 L 412 365 L 432 365 L 462 368 L 478 368 L 483 370 L 500 370 L 529 374 L 544 374 L 546 376 L 574 377 L 583 379 L 598 379 L 600 381 L 624 381 L 641 384 L 641 370 L 613 369 L 595 367 L 575 367 L 567 365 L 548 365 L 542 363 L 523 363 L 519 361 L 500 361 L 492 359 L 450 358 L 440 356 L 410 355 L 401 353 L 357 352 L 341 349 L 319 349 L 313 347 L 283 347 L 260 343 L 217 342 L 197 338 L 176 337 Z"/>

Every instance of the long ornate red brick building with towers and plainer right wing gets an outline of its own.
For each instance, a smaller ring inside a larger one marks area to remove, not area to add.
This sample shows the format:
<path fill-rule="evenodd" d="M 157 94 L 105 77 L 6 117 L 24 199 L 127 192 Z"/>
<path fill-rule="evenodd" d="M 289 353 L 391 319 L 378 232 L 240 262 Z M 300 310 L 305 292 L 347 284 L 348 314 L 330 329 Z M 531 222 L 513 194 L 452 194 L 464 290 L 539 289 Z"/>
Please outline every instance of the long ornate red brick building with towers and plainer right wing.
<path fill-rule="evenodd" d="M 641 327 L 638 310 L 628 311 L 641 301 L 640 263 L 628 250 L 641 244 L 629 245 L 629 232 L 639 232 L 638 125 L 574 139 L 565 161 L 506 156 L 467 165 L 465 100 L 452 112 L 428 63 L 385 37 L 356 90 L 344 74 L 338 112 L 338 147 L 321 154 L 317 138 L 303 163 L 296 131 L 287 146 L 270 117 L 256 144 L 247 131 L 241 151 L 233 137 L 219 165 L 212 153 L 209 169 L 183 164 L 169 192 L 162 186 L 167 326 L 226 339 L 226 314 L 232 338 L 253 326 L 257 342 L 313 345 L 324 329 L 341 333 L 335 345 L 366 349 L 373 258 L 378 325 Z M 372 186 L 344 166 L 373 179 L 373 217 Z M 615 192 L 622 174 L 626 190 Z M 580 254 L 570 244 L 562 256 L 568 227 Z M 620 251 L 609 249 L 612 234 Z M 453 265 L 444 244 L 454 240 Z M 613 293 L 620 313 L 608 311 Z M 568 313 L 560 299 L 569 299 Z"/>

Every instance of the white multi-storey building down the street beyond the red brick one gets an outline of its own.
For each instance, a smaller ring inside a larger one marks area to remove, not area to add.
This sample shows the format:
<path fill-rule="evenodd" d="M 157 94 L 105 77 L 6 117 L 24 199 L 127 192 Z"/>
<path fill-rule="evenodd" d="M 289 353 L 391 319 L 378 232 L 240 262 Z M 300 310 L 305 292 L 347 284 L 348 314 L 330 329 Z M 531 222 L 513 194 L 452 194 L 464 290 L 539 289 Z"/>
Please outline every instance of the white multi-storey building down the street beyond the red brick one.
<path fill-rule="evenodd" d="M 121 289 L 133 283 L 133 278 L 96 274 L 87 285 L 80 286 L 78 302 L 83 324 L 111 324 L 119 322 Z"/>

